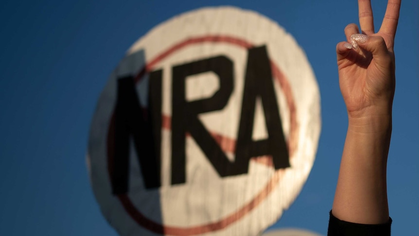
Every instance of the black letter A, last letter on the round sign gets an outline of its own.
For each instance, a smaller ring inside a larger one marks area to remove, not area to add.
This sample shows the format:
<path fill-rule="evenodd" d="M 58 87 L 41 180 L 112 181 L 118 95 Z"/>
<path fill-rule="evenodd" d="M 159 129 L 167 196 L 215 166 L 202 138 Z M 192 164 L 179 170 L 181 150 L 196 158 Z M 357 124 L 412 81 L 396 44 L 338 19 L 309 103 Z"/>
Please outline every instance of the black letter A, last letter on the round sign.
<path fill-rule="evenodd" d="M 242 113 L 236 145 L 236 168 L 246 173 L 252 157 L 271 155 L 275 169 L 289 167 L 288 148 L 282 131 L 279 106 L 275 95 L 266 47 L 248 50 Z M 268 138 L 252 140 L 256 98 L 263 106 Z"/>

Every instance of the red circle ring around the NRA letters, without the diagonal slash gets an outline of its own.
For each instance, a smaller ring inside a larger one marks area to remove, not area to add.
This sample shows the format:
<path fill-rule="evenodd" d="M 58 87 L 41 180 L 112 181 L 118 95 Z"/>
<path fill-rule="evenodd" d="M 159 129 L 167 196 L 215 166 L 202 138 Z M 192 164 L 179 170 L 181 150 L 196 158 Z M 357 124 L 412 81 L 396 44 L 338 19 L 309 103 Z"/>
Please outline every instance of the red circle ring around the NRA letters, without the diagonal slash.
<path fill-rule="evenodd" d="M 222 42 L 222 43 L 229 43 L 232 45 L 240 46 L 245 49 L 251 48 L 254 45 L 243 40 L 240 38 L 232 37 L 232 36 L 201 36 L 201 37 L 194 37 L 188 38 L 182 42 L 179 42 L 169 48 L 168 50 L 164 51 L 161 54 L 158 54 L 153 60 L 151 60 L 146 66 L 144 66 L 140 72 L 135 77 L 135 82 L 139 82 L 140 79 L 146 74 L 153 70 L 154 66 L 164 59 L 165 57 L 169 56 L 170 54 L 174 53 L 175 51 L 186 47 L 191 44 L 203 43 L 203 42 Z M 282 91 L 284 92 L 285 98 L 287 100 L 287 105 L 290 110 L 290 134 L 288 138 L 288 149 L 290 158 L 293 157 L 293 153 L 297 147 L 297 114 L 296 114 L 296 107 L 294 103 L 294 98 L 292 95 L 291 87 L 288 83 L 288 80 L 284 76 L 284 74 L 279 70 L 278 66 L 271 60 L 271 69 L 272 75 L 276 78 L 276 81 L 279 83 Z M 114 136 L 114 113 L 112 112 L 111 119 L 109 122 L 108 128 L 108 135 L 107 135 L 107 161 L 108 161 L 108 174 L 111 176 L 112 173 L 112 164 L 113 163 L 113 136 Z M 149 218 L 146 218 L 144 215 L 140 213 L 131 202 L 127 194 L 118 195 L 118 199 L 122 203 L 125 211 L 133 218 L 138 224 L 140 224 L 145 229 L 148 229 L 157 234 L 168 234 L 174 236 L 192 236 L 196 234 L 203 234 L 207 232 L 212 232 L 216 230 L 221 230 L 226 228 L 231 223 L 243 218 L 247 213 L 249 213 L 252 209 L 258 206 L 271 192 L 272 190 L 278 185 L 280 176 L 282 176 L 283 170 L 277 170 L 270 181 L 265 185 L 265 187 L 260 191 L 252 200 L 247 202 L 242 208 L 238 211 L 231 213 L 226 218 L 222 218 L 216 222 L 207 223 L 200 226 L 192 226 L 192 227 L 174 227 L 174 226 L 164 226 L 159 224 Z"/>

